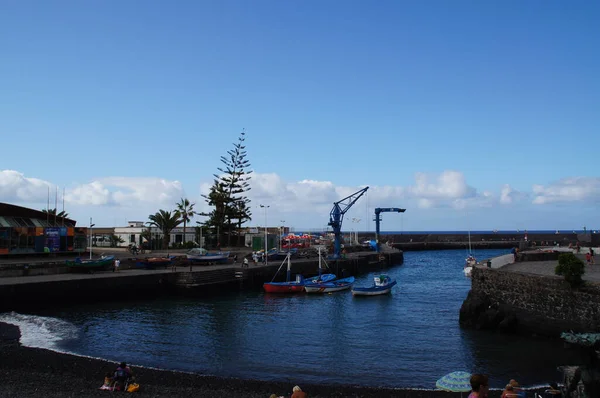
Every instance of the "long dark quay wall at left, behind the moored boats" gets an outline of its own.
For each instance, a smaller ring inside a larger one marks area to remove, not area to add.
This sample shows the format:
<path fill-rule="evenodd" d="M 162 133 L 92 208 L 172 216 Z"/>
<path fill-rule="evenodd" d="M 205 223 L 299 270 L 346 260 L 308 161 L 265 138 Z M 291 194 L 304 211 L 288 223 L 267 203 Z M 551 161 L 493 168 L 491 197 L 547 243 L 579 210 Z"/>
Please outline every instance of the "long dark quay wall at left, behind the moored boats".
<path fill-rule="evenodd" d="M 359 275 L 403 262 L 403 253 L 351 253 L 347 259 L 332 261 L 330 272 Z M 0 279 L 0 312 L 37 310 L 83 302 L 145 300 L 163 295 L 216 295 L 258 289 L 270 281 L 281 265 L 178 266 L 173 271 L 122 269 L 95 274 L 45 274 Z M 278 277 L 285 278 L 285 269 Z M 292 273 L 318 273 L 318 259 L 294 260 Z"/>

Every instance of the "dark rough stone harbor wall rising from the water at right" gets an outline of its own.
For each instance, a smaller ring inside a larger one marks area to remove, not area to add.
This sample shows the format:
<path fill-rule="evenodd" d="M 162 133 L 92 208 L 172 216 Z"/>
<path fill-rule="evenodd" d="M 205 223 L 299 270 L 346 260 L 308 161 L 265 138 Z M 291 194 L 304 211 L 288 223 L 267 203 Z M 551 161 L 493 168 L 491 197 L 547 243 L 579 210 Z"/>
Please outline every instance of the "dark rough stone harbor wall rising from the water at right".
<path fill-rule="evenodd" d="M 502 269 L 473 269 L 461 327 L 550 337 L 561 332 L 600 332 L 600 284 L 579 288 L 559 276 Z"/>

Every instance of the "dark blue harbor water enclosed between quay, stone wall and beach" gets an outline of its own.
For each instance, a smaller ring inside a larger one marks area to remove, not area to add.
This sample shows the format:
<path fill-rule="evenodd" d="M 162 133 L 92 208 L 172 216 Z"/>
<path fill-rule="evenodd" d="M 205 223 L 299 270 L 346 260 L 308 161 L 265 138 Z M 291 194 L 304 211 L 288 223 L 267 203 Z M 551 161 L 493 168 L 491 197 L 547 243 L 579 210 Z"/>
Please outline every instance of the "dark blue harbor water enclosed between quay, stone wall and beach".
<path fill-rule="evenodd" d="M 560 380 L 556 367 L 575 360 L 560 342 L 459 328 L 470 288 L 465 255 L 405 253 L 403 265 L 386 270 L 398 280 L 388 296 L 246 291 L 0 314 L 0 321 L 19 324 L 26 345 L 219 376 L 427 389 L 457 370 L 488 373 L 493 387 L 511 378 L 529 386 Z"/>

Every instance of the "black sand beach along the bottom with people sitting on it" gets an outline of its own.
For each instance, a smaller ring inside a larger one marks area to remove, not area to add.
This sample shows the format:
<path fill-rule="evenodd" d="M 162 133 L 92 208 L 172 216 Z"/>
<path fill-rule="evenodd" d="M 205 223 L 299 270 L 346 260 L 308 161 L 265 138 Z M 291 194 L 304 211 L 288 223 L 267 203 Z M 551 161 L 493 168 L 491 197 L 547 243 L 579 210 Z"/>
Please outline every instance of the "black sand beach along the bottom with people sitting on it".
<path fill-rule="evenodd" d="M 110 391 L 99 390 L 104 374 L 117 364 L 103 359 L 31 348 L 19 343 L 18 326 L 0 322 L 0 374 L 12 380 L 0 390 L 1 397 L 106 397 Z M 126 360 L 126 359 L 125 359 Z M 136 395 L 146 397 L 289 397 L 299 385 L 312 398 L 320 397 L 460 397 L 460 393 L 410 388 L 363 387 L 352 385 L 318 385 L 294 382 L 271 382 L 206 376 L 166 369 L 131 365 L 140 384 Z M 543 391 L 531 389 L 529 391 Z M 498 398 L 501 390 L 491 390 L 489 398 Z"/>

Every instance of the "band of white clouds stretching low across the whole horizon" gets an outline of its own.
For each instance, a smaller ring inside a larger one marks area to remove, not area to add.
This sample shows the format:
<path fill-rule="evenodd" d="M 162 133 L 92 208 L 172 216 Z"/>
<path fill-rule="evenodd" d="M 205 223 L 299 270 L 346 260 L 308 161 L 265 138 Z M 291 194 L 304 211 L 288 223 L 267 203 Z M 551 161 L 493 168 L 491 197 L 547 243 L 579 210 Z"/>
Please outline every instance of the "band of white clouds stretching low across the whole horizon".
<path fill-rule="evenodd" d="M 212 181 L 200 184 L 201 193 L 208 193 L 211 185 Z M 325 225 L 333 203 L 364 186 L 336 185 L 334 181 L 315 179 L 286 181 L 276 173 L 253 173 L 250 185 L 252 189 L 247 196 L 252 201 L 253 225 L 264 223 L 265 213 L 258 205 L 266 204 L 270 206 L 270 224 L 288 220 L 304 226 Z M 45 207 L 48 188 L 53 196 L 55 187 L 49 181 L 25 176 L 18 171 L 0 170 L 0 201 L 3 202 Z M 62 189 L 59 201 L 62 201 L 61 196 Z M 106 177 L 67 186 L 65 209 L 75 219 L 93 216 L 96 221 L 97 217 L 103 217 L 106 219 L 104 225 L 121 225 L 131 219 L 145 220 L 148 214 L 161 208 L 172 210 L 182 197 L 195 202 L 197 211 L 210 210 L 204 198 L 186 194 L 181 182 L 151 177 Z M 370 186 L 351 213 L 354 213 L 352 217 L 368 222 L 374 207 L 403 207 L 420 211 L 419 218 L 422 219 L 425 214 L 443 214 L 445 209 L 513 206 L 529 197 L 535 204 L 598 201 L 600 178 L 567 178 L 546 186 L 534 185 L 532 192 L 517 191 L 509 184 L 499 186 L 497 191 L 478 191 L 459 171 L 416 173 L 410 184 Z M 436 209 L 440 210 L 436 213 Z M 489 210 L 483 211 L 489 213 Z M 410 218 L 410 215 L 407 217 Z"/>

